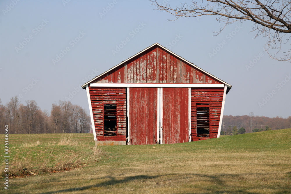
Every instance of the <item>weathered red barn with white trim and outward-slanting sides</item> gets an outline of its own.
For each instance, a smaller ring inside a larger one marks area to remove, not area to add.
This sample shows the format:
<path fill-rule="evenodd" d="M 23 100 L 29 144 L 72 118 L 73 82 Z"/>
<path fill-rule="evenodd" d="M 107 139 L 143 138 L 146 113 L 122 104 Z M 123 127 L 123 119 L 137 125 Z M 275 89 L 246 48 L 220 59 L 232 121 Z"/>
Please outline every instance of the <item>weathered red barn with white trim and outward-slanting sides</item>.
<path fill-rule="evenodd" d="M 217 138 L 231 87 L 157 43 L 82 86 L 97 145 Z"/>

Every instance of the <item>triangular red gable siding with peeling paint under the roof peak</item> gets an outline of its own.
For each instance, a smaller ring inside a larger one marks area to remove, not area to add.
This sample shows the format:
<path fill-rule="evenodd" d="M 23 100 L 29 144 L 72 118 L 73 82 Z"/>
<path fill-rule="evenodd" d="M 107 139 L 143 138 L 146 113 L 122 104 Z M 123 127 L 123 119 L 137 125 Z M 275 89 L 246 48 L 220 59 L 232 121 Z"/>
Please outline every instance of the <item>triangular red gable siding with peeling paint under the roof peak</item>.
<path fill-rule="evenodd" d="M 221 83 L 165 49 L 155 46 L 92 83 Z"/>

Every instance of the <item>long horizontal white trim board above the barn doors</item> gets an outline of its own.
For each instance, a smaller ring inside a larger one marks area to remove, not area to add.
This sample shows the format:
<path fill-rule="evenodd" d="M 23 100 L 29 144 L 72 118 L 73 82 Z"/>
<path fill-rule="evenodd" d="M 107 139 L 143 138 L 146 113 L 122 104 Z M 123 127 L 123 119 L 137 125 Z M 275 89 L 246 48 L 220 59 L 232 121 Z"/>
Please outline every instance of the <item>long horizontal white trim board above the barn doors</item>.
<path fill-rule="evenodd" d="M 91 83 L 90 87 L 137 87 L 137 88 L 224 88 L 219 83 Z"/>

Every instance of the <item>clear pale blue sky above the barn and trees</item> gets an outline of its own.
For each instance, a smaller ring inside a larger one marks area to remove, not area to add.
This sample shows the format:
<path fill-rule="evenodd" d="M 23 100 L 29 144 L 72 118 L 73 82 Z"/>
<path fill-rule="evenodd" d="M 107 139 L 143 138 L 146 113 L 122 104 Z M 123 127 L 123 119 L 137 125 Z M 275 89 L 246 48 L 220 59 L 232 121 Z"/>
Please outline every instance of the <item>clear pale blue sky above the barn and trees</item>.
<path fill-rule="evenodd" d="M 224 115 L 291 115 L 291 64 L 262 52 L 267 39 L 253 39 L 251 22 L 230 24 L 214 36 L 213 31 L 223 27 L 215 16 L 172 22 L 168 21 L 174 19 L 172 15 L 153 10 L 150 1 L 64 2 L 17 1 L 11 5 L 12 1 L 0 1 L 3 104 L 17 95 L 21 103 L 36 100 L 42 110 L 50 112 L 52 103 L 72 97 L 73 104 L 89 111 L 86 90 L 78 86 L 92 74 L 101 74 L 158 42 L 233 86 L 226 95 Z M 104 14 L 106 8 L 109 11 Z M 131 33 L 138 27 L 137 33 Z M 177 36 L 179 41 L 169 45 Z M 126 38 L 129 42 L 113 55 L 112 50 Z M 222 48 L 210 57 L 218 45 Z M 256 61 L 255 56 L 260 59 Z M 255 63 L 247 70 L 250 60 Z"/>

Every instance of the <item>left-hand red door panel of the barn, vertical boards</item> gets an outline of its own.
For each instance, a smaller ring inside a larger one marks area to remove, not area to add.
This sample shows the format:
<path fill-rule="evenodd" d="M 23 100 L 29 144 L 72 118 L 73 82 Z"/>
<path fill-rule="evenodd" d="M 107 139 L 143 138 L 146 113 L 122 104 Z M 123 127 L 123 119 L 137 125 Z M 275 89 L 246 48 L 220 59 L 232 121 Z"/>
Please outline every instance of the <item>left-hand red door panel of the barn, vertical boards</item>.
<path fill-rule="evenodd" d="M 129 88 L 129 144 L 157 143 L 157 88 Z"/>

